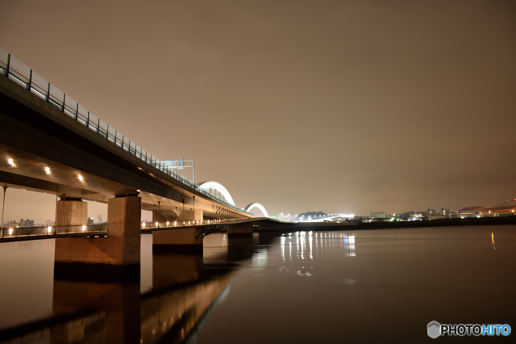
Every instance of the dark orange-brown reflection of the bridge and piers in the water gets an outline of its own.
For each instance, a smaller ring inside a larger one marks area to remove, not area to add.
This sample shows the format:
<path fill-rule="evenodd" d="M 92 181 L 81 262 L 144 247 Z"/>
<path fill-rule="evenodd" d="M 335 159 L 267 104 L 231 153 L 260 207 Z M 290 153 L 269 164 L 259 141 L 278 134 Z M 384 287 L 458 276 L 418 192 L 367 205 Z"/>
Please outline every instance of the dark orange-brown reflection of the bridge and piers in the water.
<path fill-rule="evenodd" d="M 4 329 L 0 331 L 0 340 L 2 343 L 190 342 L 203 319 L 227 293 L 238 261 L 251 259 L 257 250 L 266 249 L 273 237 L 227 240 L 224 236 L 227 250 L 219 251 L 218 256 L 211 254 L 209 260 L 217 261 L 215 264 L 204 264 L 202 254 L 153 253 L 152 290 L 142 294 L 139 281 L 55 273 L 54 316 Z"/>

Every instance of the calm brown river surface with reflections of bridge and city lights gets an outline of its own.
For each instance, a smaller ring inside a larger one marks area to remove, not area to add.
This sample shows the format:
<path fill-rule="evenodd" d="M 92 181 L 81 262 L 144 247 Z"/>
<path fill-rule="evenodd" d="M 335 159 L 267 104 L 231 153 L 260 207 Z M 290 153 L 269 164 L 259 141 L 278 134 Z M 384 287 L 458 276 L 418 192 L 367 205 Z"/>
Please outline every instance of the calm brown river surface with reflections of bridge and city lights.
<path fill-rule="evenodd" d="M 54 278 L 54 240 L 0 244 L 0 342 L 432 340 L 426 326 L 516 331 L 516 226 L 211 234 L 153 254 L 139 283 Z M 512 341 L 508 337 L 439 337 Z"/>

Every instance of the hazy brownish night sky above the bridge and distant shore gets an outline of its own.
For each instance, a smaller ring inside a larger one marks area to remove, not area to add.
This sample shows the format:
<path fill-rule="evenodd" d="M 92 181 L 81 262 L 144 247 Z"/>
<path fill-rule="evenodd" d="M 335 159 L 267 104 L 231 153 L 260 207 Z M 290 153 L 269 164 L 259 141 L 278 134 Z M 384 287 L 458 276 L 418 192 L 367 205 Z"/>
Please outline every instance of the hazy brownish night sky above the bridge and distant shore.
<path fill-rule="evenodd" d="M 516 198 L 515 18 L 492 0 L 17 0 L 0 47 L 240 207 L 459 210 Z M 4 222 L 53 218 L 55 195 L 10 191 Z"/>

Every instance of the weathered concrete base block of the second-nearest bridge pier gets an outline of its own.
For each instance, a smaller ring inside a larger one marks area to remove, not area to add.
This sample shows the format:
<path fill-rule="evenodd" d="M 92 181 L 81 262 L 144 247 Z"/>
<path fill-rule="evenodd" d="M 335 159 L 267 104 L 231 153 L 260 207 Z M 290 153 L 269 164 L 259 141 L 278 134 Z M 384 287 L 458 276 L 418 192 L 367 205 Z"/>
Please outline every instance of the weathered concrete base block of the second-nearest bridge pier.
<path fill-rule="evenodd" d="M 179 228 L 152 232 L 153 252 L 196 253 L 202 252 L 204 228 Z"/>

